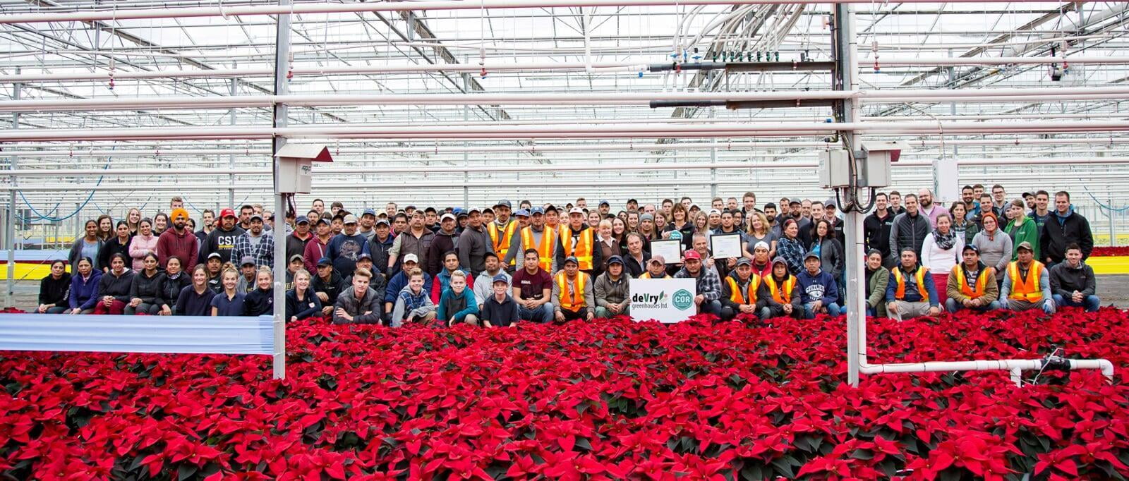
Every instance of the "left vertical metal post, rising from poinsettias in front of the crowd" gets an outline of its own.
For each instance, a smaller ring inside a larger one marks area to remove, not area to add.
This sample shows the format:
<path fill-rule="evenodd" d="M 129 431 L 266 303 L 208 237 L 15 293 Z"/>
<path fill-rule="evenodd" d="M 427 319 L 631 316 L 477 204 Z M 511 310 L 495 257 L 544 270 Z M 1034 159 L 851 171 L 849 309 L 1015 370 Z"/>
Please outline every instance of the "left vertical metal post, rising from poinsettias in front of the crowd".
<path fill-rule="evenodd" d="M 290 6 L 292 0 L 279 0 L 279 6 Z M 278 32 L 274 37 L 274 95 L 286 95 L 290 89 L 290 79 L 287 78 L 290 56 L 290 15 L 279 14 Z M 274 126 L 287 125 L 288 108 L 286 104 L 274 104 Z M 274 137 L 274 150 L 277 154 L 286 145 L 285 137 Z M 286 378 L 286 199 L 281 194 L 279 185 L 279 158 L 271 156 L 274 181 L 274 228 L 271 235 L 274 237 L 274 356 L 273 370 L 275 379 Z"/>

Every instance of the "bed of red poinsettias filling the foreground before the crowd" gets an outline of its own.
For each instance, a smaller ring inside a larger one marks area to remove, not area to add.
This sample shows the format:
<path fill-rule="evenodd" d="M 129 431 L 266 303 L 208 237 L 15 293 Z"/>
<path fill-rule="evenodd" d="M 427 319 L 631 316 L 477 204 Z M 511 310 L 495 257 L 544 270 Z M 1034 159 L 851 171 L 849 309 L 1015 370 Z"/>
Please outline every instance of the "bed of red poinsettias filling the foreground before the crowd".
<path fill-rule="evenodd" d="M 841 321 L 290 326 L 264 357 L 0 352 L 3 479 L 1123 479 L 1129 315 L 873 320 L 872 360 L 1096 371 L 844 383 Z"/>

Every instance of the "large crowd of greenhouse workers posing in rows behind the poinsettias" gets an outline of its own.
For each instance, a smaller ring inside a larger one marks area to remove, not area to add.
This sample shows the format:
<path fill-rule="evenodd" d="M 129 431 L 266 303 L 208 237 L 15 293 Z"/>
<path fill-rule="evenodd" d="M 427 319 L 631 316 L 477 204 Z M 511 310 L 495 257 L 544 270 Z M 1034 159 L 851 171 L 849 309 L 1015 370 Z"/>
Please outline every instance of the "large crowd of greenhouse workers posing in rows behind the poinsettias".
<path fill-rule="evenodd" d="M 152 218 L 130 209 L 116 224 L 87 221 L 43 279 L 38 312 L 256 316 L 273 312 L 274 276 L 285 276 L 288 320 L 510 326 L 629 315 L 632 279 L 685 278 L 697 311 L 723 320 L 837 316 L 849 301 L 837 209 L 833 199 L 759 204 L 753 192 L 708 208 L 631 199 L 616 211 L 583 198 L 380 211 L 317 199 L 279 224 L 260 204 L 204 210 L 196 230 L 173 198 Z M 882 192 L 863 226 L 869 315 L 1100 305 L 1089 225 L 1067 192 L 1009 200 L 1000 185 L 968 185 L 947 208 L 929 190 Z M 739 234 L 738 256 L 712 255 L 721 234 Z M 677 259 L 651 254 L 659 239 L 680 242 Z M 286 272 L 272 272 L 275 248 Z"/>

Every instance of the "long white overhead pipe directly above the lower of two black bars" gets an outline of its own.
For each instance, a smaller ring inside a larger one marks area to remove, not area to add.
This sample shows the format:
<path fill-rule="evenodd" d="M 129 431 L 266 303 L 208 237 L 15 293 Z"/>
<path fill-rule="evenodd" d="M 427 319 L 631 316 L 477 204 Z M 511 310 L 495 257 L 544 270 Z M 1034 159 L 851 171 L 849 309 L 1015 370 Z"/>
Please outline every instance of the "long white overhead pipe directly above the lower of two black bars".
<path fill-rule="evenodd" d="M 571 93 L 571 94 L 373 94 L 240 95 L 227 97 L 112 97 L 0 102 L 0 112 L 62 112 L 155 108 L 235 108 L 355 105 L 648 105 L 651 100 L 805 100 L 858 98 L 864 102 L 987 102 L 1000 97 L 1054 100 L 1069 96 L 1129 96 L 1129 86 L 992 89 L 794 90 L 739 93 Z"/>

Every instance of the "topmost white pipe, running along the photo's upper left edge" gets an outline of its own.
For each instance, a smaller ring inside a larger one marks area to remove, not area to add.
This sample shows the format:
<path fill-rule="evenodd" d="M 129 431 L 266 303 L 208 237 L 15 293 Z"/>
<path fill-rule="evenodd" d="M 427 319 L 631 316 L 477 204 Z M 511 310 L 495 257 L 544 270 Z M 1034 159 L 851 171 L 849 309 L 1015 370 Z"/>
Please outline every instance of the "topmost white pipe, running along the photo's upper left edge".
<path fill-rule="evenodd" d="M 297 3 L 292 6 L 180 7 L 161 9 L 100 9 L 82 11 L 43 11 L 0 15 L 0 24 L 34 24 L 46 21 L 128 20 L 142 18 L 230 17 L 278 14 L 350 14 L 405 10 L 476 10 L 480 8 L 560 8 L 560 7 L 649 7 L 677 5 L 777 5 L 777 3 L 868 3 L 872 0 L 432 0 L 360 3 Z M 954 3 L 980 3 L 982 0 L 953 0 Z M 903 3 L 931 3 L 907 0 Z M 1053 3 L 1053 2 L 1050 2 Z"/>

